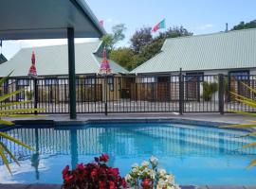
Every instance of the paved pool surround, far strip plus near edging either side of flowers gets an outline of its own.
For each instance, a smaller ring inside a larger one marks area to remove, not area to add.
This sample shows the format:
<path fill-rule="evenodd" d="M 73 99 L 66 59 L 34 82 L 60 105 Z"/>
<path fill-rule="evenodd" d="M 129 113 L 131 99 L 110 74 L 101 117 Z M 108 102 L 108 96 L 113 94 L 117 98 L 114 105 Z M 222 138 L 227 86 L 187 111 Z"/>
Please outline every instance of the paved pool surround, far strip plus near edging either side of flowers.
<path fill-rule="evenodd" d="M 71 120 L 68 114 L 49 114 L 40 118 L 9 118 L 11 121 L 56 121 L 56 122 L 72 122 L 81 123 L 89 120 L 124 120 L 124 119 L 184 119 L 195 121 L 209 121 L 225 124 L 246 124 L 249 121 L 256 121 L 256 117 L 248 117 L 240 114 L 227 113 L 221 115 L 219 113 L 188 113 L 179 115 L 176 113 L 111 113 L 107 116 L 104 114 L 78 114 L 76 120 Z M 58 184 L 1 184 L 0 189 L 61 189 Z M 181 186 L 182 189 L 256 189 L 256 186 Z"/>

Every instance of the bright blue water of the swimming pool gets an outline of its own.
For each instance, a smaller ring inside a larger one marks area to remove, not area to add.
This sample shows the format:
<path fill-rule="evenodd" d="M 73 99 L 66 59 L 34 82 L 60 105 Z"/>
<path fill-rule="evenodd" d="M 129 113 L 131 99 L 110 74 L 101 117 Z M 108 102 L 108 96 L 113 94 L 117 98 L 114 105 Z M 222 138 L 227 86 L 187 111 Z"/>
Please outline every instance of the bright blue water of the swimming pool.
<path fill-rule="evenodd" d="M 12 176 L 0 162 L 2 183 L 62 183 L 66 164 L 87 163 L 101 153 L 125 176 L 133 163 L 159 159 L 160 167 L 179 184 L 256 185 L 255 148 L 238 150 L 255 138 L 245 131 L 172 123 L 92 124 L 83 127 L 10 129 L 10 135 L 40 151 L 40 155 L 2 140 L 21 163 L 11 163 Z"/>

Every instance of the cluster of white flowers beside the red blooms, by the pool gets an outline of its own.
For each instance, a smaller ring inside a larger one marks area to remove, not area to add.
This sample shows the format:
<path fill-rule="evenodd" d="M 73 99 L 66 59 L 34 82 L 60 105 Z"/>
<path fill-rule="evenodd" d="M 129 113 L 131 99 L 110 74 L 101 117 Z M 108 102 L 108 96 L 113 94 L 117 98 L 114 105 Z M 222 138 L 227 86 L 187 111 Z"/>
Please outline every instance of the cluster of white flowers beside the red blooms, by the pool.
<path fill-rule="evenodd" d="M 134 164 L 131 172 L 125 177 L 128 186 L 135 189 L 179 189 L 174 183 L 174 176 L 164 169 L 158 169 L 157 164 L 155 157 L 141 165 Z"/>

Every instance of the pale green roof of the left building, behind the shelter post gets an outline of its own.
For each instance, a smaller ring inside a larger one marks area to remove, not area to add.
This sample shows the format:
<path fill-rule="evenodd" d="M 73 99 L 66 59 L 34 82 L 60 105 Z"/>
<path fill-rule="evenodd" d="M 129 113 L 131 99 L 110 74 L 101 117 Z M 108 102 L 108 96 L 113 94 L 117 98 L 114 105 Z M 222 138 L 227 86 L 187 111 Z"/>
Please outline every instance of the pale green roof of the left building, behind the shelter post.
<path fill-rule="evenodd" d="M 76 74 L 97 74 L 101 65 L 101 58 L 96 53 L 102 43 L 76 43 L 75 60 Z M 0 77 L 7 76 L 14 70 L 12 77 L 26 77 L 31 65 L 31 54 L 35 52 L 38 76 L 64 76 L 68 74 L 67 45 L 22 48 L 9 61 L 0 64 Z M 128 73 L 116 62 L 111 60 L 110 67 L 114 74 Z"/>

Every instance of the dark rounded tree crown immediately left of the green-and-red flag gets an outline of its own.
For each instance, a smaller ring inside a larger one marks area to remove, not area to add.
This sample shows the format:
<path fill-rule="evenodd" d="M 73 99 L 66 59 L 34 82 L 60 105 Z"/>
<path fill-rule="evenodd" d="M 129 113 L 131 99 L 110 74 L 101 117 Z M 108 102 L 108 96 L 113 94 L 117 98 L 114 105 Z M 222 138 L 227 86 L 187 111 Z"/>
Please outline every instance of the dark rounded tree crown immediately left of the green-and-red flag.
<path fill-rule="evenodd" d="M 136 31 L 136 33 L 131 38 L 131 48 L 139 53 L 142 47 L 146 44 L 151 43 L 153 41 L 151 27 L 142 27 Z"/>

